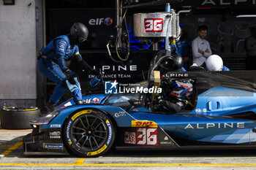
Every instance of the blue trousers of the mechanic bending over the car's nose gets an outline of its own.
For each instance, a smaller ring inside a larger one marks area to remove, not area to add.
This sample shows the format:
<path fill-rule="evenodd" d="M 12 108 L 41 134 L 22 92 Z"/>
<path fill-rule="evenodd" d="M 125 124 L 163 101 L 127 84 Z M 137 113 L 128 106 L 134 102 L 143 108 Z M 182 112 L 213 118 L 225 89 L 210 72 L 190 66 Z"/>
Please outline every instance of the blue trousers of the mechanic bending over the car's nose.
<path fill-rule="evenodd" d="M 58 64 L 43 58 L 38 60 L 38 69 L 42 74 L 48 77 L 48 79 L 57 83 L 53 90 L 52 96 L 50 96 L 50 101 L 53 101 L 53 103 L 58 103 L 59 99 L 61 99 L 66 90 L 65 87 L 67 87 L 67 76 L 64 74 L 64 72 L 62 72 Z M 72 74 L 74 74 L 74 72 L 72 72 Z M 75 90 L 72 90 L 71 93 L 74 101 L 82 100 L 82 92 L 80 88 L 75 88 Z"/>

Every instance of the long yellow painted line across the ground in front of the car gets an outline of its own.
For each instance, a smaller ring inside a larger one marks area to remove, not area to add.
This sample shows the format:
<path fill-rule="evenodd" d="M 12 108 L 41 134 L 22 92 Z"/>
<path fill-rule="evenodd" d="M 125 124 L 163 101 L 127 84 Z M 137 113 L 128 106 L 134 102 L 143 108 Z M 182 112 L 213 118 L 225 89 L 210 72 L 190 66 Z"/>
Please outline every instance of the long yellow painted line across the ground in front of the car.
<path fill-rule="evenodd" d="M 0 166 L 256 166 L 256 164 L 201 164 L 201 163 L 0 163 Z"/>

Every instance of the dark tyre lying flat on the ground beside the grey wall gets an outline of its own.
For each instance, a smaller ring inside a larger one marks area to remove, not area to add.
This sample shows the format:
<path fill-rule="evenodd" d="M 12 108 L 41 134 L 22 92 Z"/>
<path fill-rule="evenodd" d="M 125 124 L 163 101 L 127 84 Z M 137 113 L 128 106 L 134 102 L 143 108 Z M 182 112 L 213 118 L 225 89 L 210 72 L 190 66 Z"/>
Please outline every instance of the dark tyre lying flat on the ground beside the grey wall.
<path fill-rule="evenodd" d="M 4 107 L 0 110 L 1 128 L 28 129 L 31 128 L 29 121 L 39 116 L 37 107 Z"/>

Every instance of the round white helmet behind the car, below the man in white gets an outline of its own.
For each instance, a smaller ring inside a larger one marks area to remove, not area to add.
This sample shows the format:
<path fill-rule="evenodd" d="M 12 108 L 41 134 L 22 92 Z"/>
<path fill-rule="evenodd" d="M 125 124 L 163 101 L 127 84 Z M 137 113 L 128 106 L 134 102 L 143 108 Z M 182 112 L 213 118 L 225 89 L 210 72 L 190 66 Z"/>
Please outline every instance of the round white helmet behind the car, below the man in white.
<path fill-rule="evenodd" d="M 211 55 L 206 60 L 206 68 L 208 71 L 216 72 L 222 71 L 223 69 L 223 61 L 219 55 Z"/>

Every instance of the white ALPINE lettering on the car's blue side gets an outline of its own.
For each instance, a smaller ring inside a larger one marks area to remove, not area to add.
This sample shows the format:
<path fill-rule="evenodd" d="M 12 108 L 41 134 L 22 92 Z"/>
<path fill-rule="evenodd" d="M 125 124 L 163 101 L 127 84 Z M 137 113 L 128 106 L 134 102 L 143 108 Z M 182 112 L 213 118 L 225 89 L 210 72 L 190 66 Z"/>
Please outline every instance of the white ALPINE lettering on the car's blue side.
<path fill-rule="evenodd" d="M 184 129 L 187 128 L 245 128 L 244 123 L 196 123 L 187 124 Z"/>

